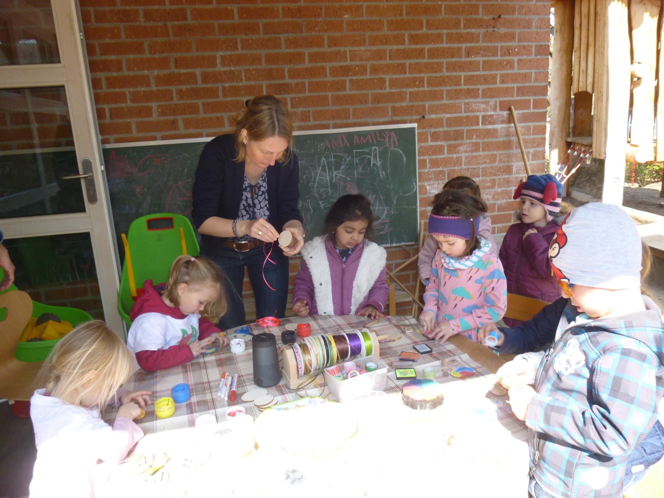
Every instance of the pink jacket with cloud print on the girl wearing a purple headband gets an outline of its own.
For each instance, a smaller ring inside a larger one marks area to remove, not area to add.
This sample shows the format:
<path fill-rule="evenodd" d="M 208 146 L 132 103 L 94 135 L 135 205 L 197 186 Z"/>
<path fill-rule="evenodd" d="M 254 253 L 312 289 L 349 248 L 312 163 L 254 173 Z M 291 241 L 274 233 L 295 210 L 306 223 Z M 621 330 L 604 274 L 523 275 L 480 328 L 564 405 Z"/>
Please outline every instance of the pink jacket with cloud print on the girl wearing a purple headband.
<path fill-rule="evenodd" d="M 463 333 L 473 341 L 478 327 L 498 321 L 507 309 L 503 265 L 488 249 L 475 250 L 463 260 L 450 258 L 469 261 L 470 268 L 448 268 L 442 251 L 437 250 L 424 293 L 424 311 L 434 311 L 437 324 L 448 320 L 454 333 Z"/>

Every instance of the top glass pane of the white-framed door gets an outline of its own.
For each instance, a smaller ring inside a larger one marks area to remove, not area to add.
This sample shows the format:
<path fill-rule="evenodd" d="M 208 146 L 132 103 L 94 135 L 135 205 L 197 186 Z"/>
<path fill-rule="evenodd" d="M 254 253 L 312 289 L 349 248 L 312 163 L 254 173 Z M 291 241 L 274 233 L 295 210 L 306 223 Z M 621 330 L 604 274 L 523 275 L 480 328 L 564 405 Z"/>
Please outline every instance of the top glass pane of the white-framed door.
<path fill-rule="evenodd" d="M 0 2 L 0 66 L 60 62 L 49 0 Z"/>

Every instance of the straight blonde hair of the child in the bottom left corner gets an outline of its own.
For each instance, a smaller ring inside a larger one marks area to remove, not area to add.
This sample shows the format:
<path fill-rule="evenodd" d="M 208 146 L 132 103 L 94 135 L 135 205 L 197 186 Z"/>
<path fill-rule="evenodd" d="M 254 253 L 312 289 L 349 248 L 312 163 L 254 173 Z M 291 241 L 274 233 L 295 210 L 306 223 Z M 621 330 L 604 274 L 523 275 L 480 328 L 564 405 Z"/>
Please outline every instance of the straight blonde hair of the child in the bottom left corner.
<path fill-rule="evenodd" d="M 133 373 L 134 363 L 124 341 L 101 320 L 78 325 L 65 335 L 44 361 L 35 385 L 71 404 L 95 396 L 100 409 Z"/>

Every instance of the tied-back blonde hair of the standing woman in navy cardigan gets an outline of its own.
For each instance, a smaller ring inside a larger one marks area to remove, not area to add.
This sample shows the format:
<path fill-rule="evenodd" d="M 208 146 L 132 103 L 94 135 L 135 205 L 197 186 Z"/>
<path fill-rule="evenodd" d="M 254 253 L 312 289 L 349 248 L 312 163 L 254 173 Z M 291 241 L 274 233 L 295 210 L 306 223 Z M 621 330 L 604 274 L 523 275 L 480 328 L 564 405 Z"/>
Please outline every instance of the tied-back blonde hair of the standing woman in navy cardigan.
<path fill-rule="evenodd" d="M 235 121 L 235 147 L 238 154 L 234 158 L 238 163 L 246 157 L 246 147 L 242 140 L 242 128 L 246 129 L 250 140 L 260 141 L 271 137 L 280 137 L 288 142 L 288 148 L 277 159 L 280 163 L 290 159 L 293 149 L 293 124 L 284 103 L 272 95 L 254 97 L 238 114 L 232 116 Z"/>

